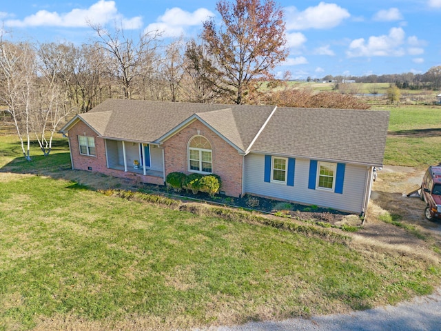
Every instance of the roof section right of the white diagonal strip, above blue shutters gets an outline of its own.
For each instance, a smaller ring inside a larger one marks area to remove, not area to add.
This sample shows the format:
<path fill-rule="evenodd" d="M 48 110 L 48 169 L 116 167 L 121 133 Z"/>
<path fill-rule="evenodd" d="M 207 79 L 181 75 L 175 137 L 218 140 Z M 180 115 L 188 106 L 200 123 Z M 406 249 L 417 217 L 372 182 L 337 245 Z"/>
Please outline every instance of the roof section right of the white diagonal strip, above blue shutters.
<path fill-rule="evenodd" d="M 278 108 L 251 150 L 382 165 L 389 112 Z"/>

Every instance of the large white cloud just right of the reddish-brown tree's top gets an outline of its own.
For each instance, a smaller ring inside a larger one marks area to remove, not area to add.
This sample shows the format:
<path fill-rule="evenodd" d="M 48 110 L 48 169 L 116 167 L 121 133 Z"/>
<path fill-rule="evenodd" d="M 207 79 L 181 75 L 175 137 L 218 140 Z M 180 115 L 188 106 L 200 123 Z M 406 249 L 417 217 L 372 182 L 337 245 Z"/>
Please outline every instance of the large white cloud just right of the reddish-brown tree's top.
<path fill-rule="evenodd" d="M 317 6 L 309 7 L 303 12 L 299 12 L 294 6 L 285 8 L 287 30 L 334 28 L 350 16 L 345 8 L 335 3 L 320 2 Z"/>

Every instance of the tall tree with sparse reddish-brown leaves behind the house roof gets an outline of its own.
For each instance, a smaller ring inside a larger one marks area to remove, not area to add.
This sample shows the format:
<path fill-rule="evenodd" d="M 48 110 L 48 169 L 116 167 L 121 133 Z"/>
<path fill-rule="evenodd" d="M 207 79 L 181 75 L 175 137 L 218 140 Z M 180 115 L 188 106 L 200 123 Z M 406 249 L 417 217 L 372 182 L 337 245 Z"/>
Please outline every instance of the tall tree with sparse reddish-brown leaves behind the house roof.
<path fill-rule="evenodd" d="M 214 18 L 209 19 L 202 34 L 222 80 L 214 83 L 234 103 L 244 103 L 250 84 L 271 79 L 270 70 L 288 55 L 283 10 L 273 0 L 220 0 L 216 9 L 223 26 L 217 28 Z"/>

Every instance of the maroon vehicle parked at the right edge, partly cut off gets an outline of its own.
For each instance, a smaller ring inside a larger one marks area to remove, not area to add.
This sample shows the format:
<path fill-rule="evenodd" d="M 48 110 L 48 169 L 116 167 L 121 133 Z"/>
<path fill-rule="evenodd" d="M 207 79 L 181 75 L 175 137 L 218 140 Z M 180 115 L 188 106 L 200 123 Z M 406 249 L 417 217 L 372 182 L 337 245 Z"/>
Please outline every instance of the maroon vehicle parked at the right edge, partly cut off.
<path fill-rule="evenodd" d="M 427 203 L 424 216 L 429 221 L 441 219 L 441 163 L 429 167 L 424 174 L 421 183 L 421 200 Z"/>

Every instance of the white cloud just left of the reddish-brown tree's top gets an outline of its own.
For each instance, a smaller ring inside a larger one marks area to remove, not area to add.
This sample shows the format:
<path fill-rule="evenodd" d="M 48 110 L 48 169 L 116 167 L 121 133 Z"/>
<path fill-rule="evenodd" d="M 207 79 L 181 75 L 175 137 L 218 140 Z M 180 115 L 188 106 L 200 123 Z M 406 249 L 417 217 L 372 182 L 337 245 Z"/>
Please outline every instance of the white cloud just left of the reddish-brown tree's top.
<path fill-rule="evenodd" d="M 165 13 L 158 17 L 156 23 L 151 23 L 145 31 L 163 32 L 163 37 L 179 37 L 185 34 L 185 28 L 189 26 L 200 26 L 203 21 L 214 16 L 212 12 L 205 8 L 199 8 L 194 12 L 187 12 L 181 8 L 174 7 L 165 10 Z"/>

